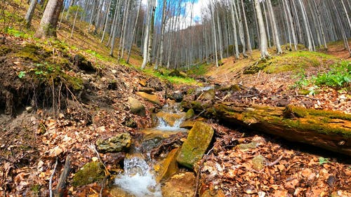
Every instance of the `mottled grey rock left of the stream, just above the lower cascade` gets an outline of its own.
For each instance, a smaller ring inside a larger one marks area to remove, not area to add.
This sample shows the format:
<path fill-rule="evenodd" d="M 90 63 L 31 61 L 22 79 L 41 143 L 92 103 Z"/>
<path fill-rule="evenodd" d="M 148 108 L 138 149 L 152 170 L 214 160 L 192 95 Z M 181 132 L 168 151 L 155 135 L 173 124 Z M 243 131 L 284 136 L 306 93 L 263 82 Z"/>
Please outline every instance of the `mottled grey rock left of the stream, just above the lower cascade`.
<path fill-rule="evenodd" d="M 131 135 L 129 133 L 119 133 L 105 140 L 99 139 L 96 142 L 98 151 L 102 153 L 115 153 L 125 151 L 131 147 Z"/>

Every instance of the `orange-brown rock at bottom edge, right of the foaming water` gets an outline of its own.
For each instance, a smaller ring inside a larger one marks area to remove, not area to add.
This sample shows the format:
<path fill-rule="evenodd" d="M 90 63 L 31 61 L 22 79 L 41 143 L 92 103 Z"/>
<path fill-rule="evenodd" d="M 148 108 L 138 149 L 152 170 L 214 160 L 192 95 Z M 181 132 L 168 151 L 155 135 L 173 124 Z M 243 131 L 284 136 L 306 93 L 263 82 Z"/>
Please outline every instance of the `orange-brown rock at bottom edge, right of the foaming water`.
<path fill-rule="evenodd" d="M 196 190 L 194 173 L 185 172 L 173 175 L 162 187 L 163 197 L 192 197 Z"/>

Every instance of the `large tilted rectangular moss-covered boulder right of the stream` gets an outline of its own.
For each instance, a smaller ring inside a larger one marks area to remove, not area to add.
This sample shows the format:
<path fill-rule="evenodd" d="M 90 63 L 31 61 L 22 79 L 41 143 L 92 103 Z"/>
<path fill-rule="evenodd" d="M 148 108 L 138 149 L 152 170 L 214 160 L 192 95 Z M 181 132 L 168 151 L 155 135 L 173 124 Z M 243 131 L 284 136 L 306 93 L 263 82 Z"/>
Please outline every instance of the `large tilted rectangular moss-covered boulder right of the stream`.
<path fill-rule="evenodd" d="M 211 143 L 213 128 L 206 123 L 196 122 L 183 143 L 177 161 L 180 165 L 192 168 L 205 154 Z"/>

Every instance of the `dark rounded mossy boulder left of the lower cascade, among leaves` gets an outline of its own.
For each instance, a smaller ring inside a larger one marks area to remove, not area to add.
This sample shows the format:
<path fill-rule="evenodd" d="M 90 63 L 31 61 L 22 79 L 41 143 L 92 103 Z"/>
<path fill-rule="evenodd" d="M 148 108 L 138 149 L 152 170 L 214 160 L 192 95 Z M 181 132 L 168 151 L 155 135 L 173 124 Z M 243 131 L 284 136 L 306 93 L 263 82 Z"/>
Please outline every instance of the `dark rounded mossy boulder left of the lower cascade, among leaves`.
<path fill-rule="evenodd" d="M 93 182 L 100 182 L 105 177 L 105 171 L 102 163 L 86 163 L 73 177 L 73 186 L 83 186 Z"/>

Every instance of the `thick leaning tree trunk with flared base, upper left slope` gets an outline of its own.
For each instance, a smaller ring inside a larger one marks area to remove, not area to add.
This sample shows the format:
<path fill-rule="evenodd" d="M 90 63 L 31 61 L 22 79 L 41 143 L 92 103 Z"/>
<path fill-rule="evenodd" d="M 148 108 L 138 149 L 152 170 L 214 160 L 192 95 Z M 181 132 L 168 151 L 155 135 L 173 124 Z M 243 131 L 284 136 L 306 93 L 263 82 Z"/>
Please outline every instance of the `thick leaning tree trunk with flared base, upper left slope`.
<path fill-rule="evenodd" d="M 63 0 L 48 0 L 43 17 L 41 18 L 39 29 L 35 36 L 39 39 L 46 37 L 56 37 L 56 27 L 60 16 Z"/>

